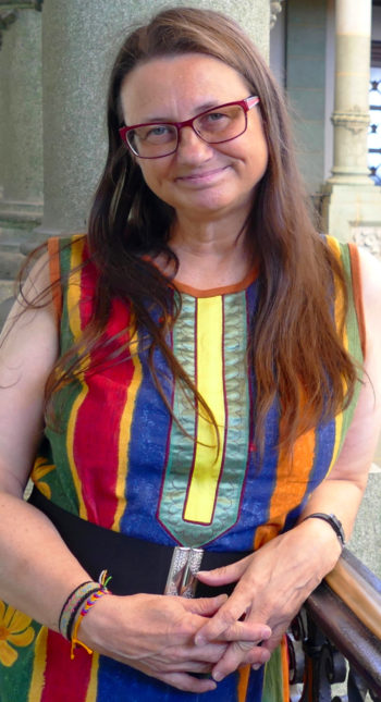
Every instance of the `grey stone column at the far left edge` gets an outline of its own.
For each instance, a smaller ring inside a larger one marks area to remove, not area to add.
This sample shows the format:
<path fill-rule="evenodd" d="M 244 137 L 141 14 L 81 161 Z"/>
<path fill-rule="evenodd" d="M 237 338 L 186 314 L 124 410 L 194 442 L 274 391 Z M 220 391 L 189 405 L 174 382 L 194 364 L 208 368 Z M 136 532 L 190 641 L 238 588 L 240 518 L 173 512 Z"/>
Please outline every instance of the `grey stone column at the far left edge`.
<path fill-rule="evenodd" d="M 17 246 L 42 215 L 41 14 L 1 14 L 0 244 Z"/>

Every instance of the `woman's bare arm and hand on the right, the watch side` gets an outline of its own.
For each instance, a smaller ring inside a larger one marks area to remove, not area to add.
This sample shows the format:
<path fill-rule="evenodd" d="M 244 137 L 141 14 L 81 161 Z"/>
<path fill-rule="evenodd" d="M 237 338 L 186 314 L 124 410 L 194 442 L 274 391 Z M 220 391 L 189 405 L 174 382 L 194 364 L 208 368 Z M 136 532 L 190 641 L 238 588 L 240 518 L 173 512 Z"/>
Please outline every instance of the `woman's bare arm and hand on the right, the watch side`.
<path fill-rule="evenodd" d="M 330 476 L 312 493 L 302 520 L 314 512 L 333 513 L 351 535 L 366 487 L 381 426 L 381 266 L 361 254 L 362 293 L 367 330 L 364 385 L 339 459 Z M 214 666 L 220 679 L 244 662 L 255 665 L 268 660 L 290 621 L 321 579 L 334 567 L 341 546 L 332 528 L 320 519 L 302 521 L 291 531 L 226 568 L 202 574 L 209 584 L 237 581 L 233 595 L 200 630 L 197 641 L 212 640 L 242 615 L 242 641 L 232 643 Z M 250 625 L 268 624 L 272 637 L 262 651 L 250 649 Z"/>

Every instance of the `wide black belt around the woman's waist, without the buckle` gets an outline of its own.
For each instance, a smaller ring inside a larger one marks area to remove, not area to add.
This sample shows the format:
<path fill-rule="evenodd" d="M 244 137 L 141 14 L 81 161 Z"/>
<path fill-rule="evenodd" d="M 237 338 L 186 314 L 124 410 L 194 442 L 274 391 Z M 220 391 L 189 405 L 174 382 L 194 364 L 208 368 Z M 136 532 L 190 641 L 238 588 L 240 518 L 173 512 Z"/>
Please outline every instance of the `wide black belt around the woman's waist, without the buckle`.
<path fill-rule="evenodd" d="M 88 575 L 98 580 L 102 570 L 112 576 L 110 590 L 114 594 L 163 594 L 173 565 L 174 549 L 143 539 L 135 539 L 86 521 L 54 505 L 34 488 L 28 502 L 44 512 L 54 525 L 70 551 Z M 204 551 L 202 570 L 228 566 L 249 551 Z M 200 569 L 200 568 L 198 568 Z M 196 596 L 211 596 L 234 589 L 234 583 L 211 588 L 197 582 Z"/>

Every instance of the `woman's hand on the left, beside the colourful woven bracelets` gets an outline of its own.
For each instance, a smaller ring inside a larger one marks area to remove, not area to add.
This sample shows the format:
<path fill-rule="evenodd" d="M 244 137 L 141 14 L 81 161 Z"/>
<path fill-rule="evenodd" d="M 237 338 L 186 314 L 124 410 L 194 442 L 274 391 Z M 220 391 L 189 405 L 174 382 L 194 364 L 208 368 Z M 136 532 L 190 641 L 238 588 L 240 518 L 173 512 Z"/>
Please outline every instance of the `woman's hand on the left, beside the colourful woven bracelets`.
<path fill-rule="evenodd" d="M 196 646 L 195 635 L 226 601 L 226 595 L 187 600 L 171 595 L 136 594 L 101 598 L 83 619 L 78 638 L 98 653 L 121 661 L 146 675 L 189 692 L 216 688 L 210 673 L 226 643 Z M 258 640 L 263 627 L 258 625 Z"/>

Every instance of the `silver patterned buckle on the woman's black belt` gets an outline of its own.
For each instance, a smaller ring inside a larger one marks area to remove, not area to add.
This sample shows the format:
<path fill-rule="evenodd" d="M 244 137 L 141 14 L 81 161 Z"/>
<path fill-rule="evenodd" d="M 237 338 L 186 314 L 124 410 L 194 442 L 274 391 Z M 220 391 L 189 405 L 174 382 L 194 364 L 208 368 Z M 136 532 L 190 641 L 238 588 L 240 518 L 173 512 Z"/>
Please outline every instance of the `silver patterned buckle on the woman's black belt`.
<path fill-rule="evenodd" d="M 194 598 L 197 586 L 196 575 L 200 569 L 202 556 L 204 549 L 175 546 L 164 594 Z"/>

